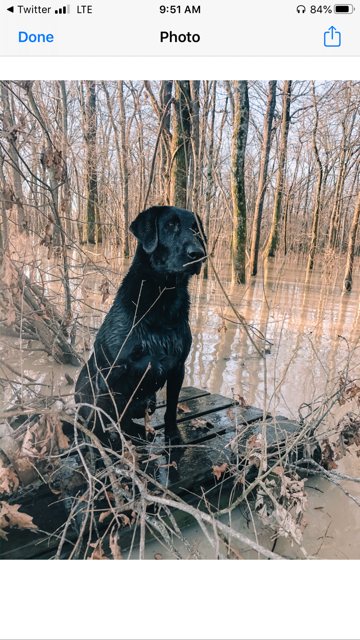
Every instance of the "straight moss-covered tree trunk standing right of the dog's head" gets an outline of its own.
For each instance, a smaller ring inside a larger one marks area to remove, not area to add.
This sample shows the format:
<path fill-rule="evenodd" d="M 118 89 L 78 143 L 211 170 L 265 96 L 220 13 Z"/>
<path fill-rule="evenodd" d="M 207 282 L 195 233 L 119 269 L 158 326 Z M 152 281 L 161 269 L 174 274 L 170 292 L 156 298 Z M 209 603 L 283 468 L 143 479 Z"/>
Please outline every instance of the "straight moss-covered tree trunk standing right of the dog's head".
<path fill-rule="evenodd" d="M 233 280 L 245 283 L 246 197 L 245 151 L 249 129 L 249 94 L 246 80 L 234 83 L 235 118 L 231 150 L 231 192 L 233 201 Z"/>

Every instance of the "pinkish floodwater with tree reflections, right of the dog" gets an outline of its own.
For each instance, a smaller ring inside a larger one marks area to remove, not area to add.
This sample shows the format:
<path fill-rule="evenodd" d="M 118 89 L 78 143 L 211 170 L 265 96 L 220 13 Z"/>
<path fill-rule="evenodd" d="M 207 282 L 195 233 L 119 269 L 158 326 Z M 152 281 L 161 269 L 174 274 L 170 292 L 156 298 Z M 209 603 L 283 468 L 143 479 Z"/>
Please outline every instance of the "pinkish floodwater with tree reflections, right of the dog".
<path fill-rule="evenodd" d="M 285 415 L 297 415 L 302 402 L 320 395 L 328 378 L 344 366 L 348 350 L 359 337 L 358 282 L 350 295 L 341 280 L 331 286 L 319 273 L 305 284 L 298 268 L 268 266 L 265 277 L 247 287 L 228 285 L 238 311 L 273 343 L 266 357 L 269 398 L 282 381 L 273 405 Z M 262 406 L 265 363 L 258 356 L 221 294 L 205 282 L 192 286 L 193 346 L 186 367 L 186 384 L 231 396 L 240 393 L 249 404 Z M 226 329 L 222 328 L 223 317 Z M 358 358 L 353 360 L 358 369 Z M 355 370 L 354 370 L 355 375 Z"/>

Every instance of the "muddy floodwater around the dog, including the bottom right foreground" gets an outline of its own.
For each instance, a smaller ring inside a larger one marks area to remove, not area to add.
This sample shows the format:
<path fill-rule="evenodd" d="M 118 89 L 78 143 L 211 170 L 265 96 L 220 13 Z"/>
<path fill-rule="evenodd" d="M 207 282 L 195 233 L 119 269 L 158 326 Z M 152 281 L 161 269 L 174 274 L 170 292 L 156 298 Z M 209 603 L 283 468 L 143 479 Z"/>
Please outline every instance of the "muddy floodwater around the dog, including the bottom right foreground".
<path fill-rule="evenodd" d="M 96 328 L 109 310 L 113 294 L 128 268 L 120 262 L 113 250 L 89 255 L 98 267 L 87 268 L 85 279 L 82 271 L 73 267 L 74 295 L 78 299 L 77 313 L 83 323 L 83 333 L 77 336 L 77 348 L 81 352 L 84 343 L 93 340 Z M 312 404 L 323 394 L 331 395 L 338 389 L 339 373 L 349 362 L 349 376 L 360 377 L 360 276 L 356 265 L 352 292 L 342 294 L 343 266 L 331 271 L 314 271 L 308 283 L 302 265 L 272 264 L 265 273 L 250 280 L 248 285 L 231 283 L 227 268 L 220 270 L 220 277 L 237 311 L 254 329 L 266 334 L 267 342 L 255 338 L 259 348 L 265 346 L 261 358 L 251 344 L 238 319 L 214 279 L 204 281 L 194 278 L 191 283 L 192 306 L 190 325 L 193 334 L 191 353 L 186 363 L 184 386 L 191 385 L 212 393 L 232 397 L 240 395 L 247 404 L 261 407 L 295 419 L 299 407 Z M 54 273 L 56 269 L 54 268 Z M 54 274 L 53 274 L 54 275 Z M 102 304 L 100 286 L 109 277 L 111 297 Z M 55 286 L 52 286 L 55 291 Z M 85 300 L 84 300 L 85 298 Z M 95 309 L 95 311 L 94 311 Z M 259 334 L 258 334 L 259 335 Z M 78 370 L 71 366 L 54 364 L 41 351 L 31 351 L 38 343 L 28 345 L 20 359 L 20 352 L 13 348 L 18 341 L 3 339 L 2 358 L 42 385 L 51 385 L 53 392 L 71 397 L 73 387 L 65 380 L 65 373 L 76 380 Z M 87 346 L 87 345 L 86 345 Z M 88 357 L 89 351 L 83 356 Z M 9 374 L 9 372 L 7 372 Z M 47 387 L 43 386 L 42 390 Z M 40 387 L 39 387 L 40 389 Z M 9 406 L 13 392 L 3 395 L 3 407 Z M 306 407 L 302 408 L 306 416 Z M 359 411 L 355 402 L 334 406 L 328 416 L 326 428 L 336 424 L 347 411 Z M 352 452 L 339 461 L 338 471 L 360 477 L 360 458 Z M 357 500 L 360 500 L 360 484 L 343 483 Z M 305 483 L 308 504 L 305 517 L 303 546 L 310 556 L 317 558 L 360 558 L 360 508 L 338 487 L 323 479 L 310 478 Z M 247 509 L 240 506 L 232 514 L 231 525 L 254 538 L 254 525 L 259 543 L 268 546 L 269 535 L 255 516 L 249 520 Z M 229 524 L 228 517 L 223 521 Z M 184 531 L 200 557 L 214 557 L 214 550 L 197 526 Z M 255 539 L 255 538 L 254 538 Z M 179 545 L 179 549 L 181 545 Z M 257 557 L 256 553 L 233 541 L 233 548 L 244 558 Z M 304 557 L 289 542 L 279 539 L 276 552 L 291 557 Z M 146 557 L 160 553 L 163 558 L 172 557 L 159 542 L 149 542 Z M 226 556 L 226 550 L 223 549 Z M 183 557 L 193 557 L 182 549 Z M 133 557 L 136 557 L 134 552 Z"/>

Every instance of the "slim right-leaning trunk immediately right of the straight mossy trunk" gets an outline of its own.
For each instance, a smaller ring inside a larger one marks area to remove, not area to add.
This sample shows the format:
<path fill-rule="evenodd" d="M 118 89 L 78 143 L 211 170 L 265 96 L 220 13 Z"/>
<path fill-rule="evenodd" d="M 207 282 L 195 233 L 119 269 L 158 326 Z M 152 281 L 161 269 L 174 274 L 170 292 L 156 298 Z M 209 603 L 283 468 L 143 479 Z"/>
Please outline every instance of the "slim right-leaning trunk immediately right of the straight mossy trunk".
<path fill-rule="evenodd" d="M 250 275 L 256 276 L 260 244 L 260 227 L 266 193 L 267 171 L 271 147 L 271 129 L 276 106 L 276 80 L 269 82 L 269 95 L 265 115 L 264 141 L 261 156 L 260 177 L 255 204 L 250 253 Z"/>

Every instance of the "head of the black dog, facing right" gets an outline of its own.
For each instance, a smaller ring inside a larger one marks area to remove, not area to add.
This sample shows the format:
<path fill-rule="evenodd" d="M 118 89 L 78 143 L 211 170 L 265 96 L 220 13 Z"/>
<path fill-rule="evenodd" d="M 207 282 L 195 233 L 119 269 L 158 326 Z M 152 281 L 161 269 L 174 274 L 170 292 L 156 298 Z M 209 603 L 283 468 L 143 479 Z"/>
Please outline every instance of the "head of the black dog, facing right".
<path fill-rule="evenodd" d="M 151 207 L 139 213 L 130 231 L 159 273 L 200 273 L 206 258 L 206 238 L 200 218 L 191 211 Z"/>

